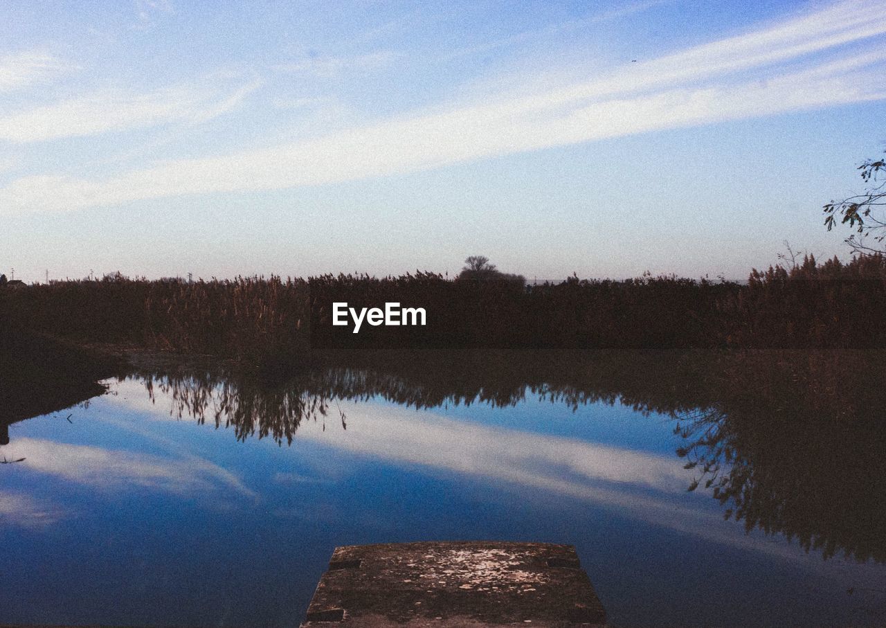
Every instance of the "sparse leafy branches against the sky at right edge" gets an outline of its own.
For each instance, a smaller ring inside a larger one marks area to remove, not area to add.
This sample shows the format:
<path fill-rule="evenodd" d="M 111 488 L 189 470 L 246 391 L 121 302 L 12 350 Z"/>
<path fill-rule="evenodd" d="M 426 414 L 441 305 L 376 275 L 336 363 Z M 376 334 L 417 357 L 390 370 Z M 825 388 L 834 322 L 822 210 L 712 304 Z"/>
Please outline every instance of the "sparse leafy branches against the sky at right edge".
<path fill-rule="evenodd" d="M 861 194 L 831 201 L 824 206 L 825 225 L 828 231 L 834 228 L 836 216 L 843 216 L 842 224 L 849 223 L 857 233 L 846 238 L 846 244 L 861 254 L 886 252 L 883 240 L 886 239 L 886 160 L 867 159 L 859 166 L 861 178 L 868 188 Z M 867 239 L 866 238 L 870 238 Z M 868 245 L 873 239 L 874 245 Z"/>

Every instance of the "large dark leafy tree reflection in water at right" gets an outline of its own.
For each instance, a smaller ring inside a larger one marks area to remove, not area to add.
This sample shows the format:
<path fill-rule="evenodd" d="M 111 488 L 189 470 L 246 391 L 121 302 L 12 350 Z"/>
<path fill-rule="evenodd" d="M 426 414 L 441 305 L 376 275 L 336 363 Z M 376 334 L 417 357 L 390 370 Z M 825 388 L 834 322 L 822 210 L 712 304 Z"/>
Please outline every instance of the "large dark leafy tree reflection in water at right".
<path fill-rule="evenodd" d="M 886 562 L 886 391 L 859 355 L 745 357 L 705 409 L 678 413 L 678 450 L 746 531 Z M 878 376 L 878 374 L 880 374 Z"/>

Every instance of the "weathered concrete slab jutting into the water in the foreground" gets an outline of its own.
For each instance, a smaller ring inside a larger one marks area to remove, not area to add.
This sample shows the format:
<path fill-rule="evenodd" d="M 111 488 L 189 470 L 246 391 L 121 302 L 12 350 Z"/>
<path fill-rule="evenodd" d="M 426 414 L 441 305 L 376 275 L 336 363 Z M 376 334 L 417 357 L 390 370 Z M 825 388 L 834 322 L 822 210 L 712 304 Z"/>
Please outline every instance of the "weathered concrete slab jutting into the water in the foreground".
<path fill-rule="evenodd" d="M 605 622 L 574 547 L 475 541 L 337 547 L 302 626 Z"/>

